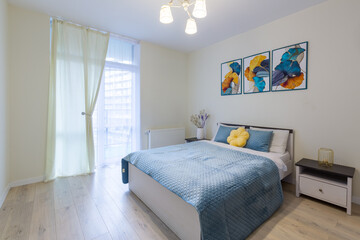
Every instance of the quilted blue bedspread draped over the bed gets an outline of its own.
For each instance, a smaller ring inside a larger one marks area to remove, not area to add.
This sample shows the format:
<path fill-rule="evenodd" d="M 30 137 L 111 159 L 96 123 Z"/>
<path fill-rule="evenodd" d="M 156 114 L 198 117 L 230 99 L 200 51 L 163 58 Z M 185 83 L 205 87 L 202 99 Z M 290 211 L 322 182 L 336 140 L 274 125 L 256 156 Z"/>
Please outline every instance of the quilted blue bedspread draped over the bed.
<path fill-rule="evenodd" d="M 129 162 L 195 207 L 203 240 L 245 239 L 283 202 L 273 161 L 208 142 L 131 153 L 124 183 Z"/>

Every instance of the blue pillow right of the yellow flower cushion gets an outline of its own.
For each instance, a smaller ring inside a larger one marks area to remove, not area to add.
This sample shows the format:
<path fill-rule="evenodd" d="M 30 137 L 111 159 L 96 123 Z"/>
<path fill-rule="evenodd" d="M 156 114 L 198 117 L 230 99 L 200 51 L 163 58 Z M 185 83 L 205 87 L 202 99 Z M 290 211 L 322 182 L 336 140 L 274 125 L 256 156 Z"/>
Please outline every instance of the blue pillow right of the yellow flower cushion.
<path fill-rule="evenodd" d="M 260 152 L 269 152 L 272 131 L 256 131 L 248 130 L 250 138 L 246 143 L 246 148 L 250 148 Z"/>

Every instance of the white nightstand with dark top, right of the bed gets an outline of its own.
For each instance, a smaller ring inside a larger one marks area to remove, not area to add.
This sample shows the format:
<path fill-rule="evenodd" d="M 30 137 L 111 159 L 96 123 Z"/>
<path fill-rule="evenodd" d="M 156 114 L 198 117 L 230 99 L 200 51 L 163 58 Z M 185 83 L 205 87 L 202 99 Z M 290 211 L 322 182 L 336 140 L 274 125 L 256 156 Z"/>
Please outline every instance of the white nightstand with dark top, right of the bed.
<path fill-rule="evenodd" d="M 296 166 L 296 196 L 305 194 L 341 207 L 351 215 L 352 180 L 355 168 L 334 164 L 323 167 L 303 158 Z"/>

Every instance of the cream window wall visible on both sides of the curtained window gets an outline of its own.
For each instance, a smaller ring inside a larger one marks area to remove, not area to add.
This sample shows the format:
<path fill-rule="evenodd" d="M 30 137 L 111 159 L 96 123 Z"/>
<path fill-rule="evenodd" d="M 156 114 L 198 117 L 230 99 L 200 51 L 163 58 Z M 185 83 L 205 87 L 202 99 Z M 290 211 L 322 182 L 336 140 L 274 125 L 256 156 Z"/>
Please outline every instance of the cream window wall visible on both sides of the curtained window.
<path fill-rule="evenodd" d="M 49 82 L 49 16 L 9 5 L 11 182 L 44 175 Z M 141 136 L 185 126 L 187 55 L 141 43 Z"/>

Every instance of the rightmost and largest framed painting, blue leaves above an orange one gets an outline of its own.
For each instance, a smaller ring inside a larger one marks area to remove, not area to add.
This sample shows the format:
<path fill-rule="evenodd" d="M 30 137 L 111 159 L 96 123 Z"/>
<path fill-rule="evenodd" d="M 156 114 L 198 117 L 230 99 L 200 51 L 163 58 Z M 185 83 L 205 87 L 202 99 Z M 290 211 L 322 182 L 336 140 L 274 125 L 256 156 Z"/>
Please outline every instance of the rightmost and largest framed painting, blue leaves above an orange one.
<path fill-rule="evenodd" d="M 272 51 L 271 91 L 307 89 L 308 42 Z"/>

